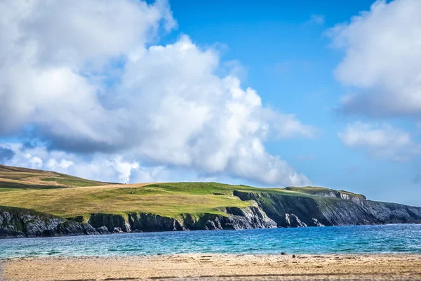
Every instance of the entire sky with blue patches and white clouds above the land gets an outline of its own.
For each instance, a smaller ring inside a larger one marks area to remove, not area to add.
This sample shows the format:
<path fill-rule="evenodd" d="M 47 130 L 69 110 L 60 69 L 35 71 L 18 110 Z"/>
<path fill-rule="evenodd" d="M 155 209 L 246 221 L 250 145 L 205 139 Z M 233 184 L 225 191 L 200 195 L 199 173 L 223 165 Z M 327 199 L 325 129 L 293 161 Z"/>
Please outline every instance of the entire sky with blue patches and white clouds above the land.
<path fill-rule="evenodd" d="M 0 164 L 421 205 L 421 1 L 0 1 Z"/>

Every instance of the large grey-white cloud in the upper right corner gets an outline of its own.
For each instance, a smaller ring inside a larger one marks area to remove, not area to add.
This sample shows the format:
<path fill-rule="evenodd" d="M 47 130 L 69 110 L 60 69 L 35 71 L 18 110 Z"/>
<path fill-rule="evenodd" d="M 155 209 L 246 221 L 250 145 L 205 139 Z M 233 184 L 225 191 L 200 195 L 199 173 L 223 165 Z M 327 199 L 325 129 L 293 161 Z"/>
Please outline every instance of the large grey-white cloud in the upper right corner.
<path fill-rule="evenodd" d="M 370 116 L 421 115 L 421 1 L 376 1 L 328 31 L 345 52 L 335 77 L 351 86 L 340 110 Z"/>

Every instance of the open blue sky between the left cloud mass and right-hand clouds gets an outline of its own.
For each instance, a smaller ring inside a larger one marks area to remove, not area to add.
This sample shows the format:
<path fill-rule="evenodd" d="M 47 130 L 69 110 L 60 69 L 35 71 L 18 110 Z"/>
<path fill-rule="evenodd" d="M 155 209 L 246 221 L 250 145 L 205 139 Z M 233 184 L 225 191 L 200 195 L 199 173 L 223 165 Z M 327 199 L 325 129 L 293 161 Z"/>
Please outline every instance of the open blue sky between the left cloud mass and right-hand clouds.
<path fill-rule="evenodd" d="M 399 195 L 395 190 L 420 195 L 420 185 L 413 182 L 419 162 L 368 158 L 349 150 L 337 137 L 353 118 L 335 112 L 347 89 L 333 77 L 342 52 L 330 48 L 325 32 L 368 11 L 373 1 L 269 1 L 266 5 L 233 1 L 223 9 L 222 2 L 172 3 L 179 33 L 169 40 L 186 33 L 202 46 L 225 44 L 223 58 L 241 62 L 245 84 L 258 89 L 265 103 L 293 112 L 323 131 L 312 141 L 268 143 L 270 151 L 300 166 L 317 185 L 363 192 L 378 200 L 394 200 L 389 194 Z M 315 22 L 312 16 L 322 17 L 323 22 Z M 399 200 L 419 204 L 407 195 Z"/>

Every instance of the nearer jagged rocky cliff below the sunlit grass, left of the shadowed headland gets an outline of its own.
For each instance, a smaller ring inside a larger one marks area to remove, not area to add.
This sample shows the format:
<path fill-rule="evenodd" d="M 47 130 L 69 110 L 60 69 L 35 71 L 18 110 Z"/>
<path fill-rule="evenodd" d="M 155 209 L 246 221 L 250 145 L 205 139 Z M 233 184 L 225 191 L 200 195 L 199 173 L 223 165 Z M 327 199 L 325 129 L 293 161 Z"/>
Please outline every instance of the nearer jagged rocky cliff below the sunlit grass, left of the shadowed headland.
<path fill-rule="evenodd" d="M 223 211 L 224 215 L 182 214 L 178 218 L 149 213 L 131 213 L 126 216 L 91 214 L 88 223 L 83 223 L 83 217 L 66 219 L 29 209 L 0 207 L 0 238 L 276 228 L 276 223 L 257 204 L 242 209 L 226 208 Z"/>

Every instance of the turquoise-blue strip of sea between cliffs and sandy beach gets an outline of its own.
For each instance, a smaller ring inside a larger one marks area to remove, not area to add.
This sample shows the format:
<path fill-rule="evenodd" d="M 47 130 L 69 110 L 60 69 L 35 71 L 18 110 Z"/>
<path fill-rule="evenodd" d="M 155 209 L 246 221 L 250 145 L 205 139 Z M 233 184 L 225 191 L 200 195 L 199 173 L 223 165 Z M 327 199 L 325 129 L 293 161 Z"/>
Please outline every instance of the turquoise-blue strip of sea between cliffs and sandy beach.
<path fill-rule="evenodd" d="M 0 259 L 18 256 L 279 254 L 282 251 L 288 254 L 421 254 L 421 225 L 127 233 L 0 240 Z"/>

